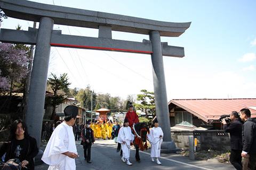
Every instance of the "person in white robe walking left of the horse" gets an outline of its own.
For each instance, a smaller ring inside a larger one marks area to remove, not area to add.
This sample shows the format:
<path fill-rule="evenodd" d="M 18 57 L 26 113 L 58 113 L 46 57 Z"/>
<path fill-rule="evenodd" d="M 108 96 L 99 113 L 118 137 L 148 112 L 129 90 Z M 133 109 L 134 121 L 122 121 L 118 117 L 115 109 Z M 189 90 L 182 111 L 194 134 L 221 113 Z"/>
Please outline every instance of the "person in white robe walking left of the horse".
<path fill-rule="evenodd" d="M 134 135 L 132 134 L 132 130 L 129 126 L 129 121 L 124 119 L 124 126 L 122 126 L 118 132 L 117 142 L 121 143 L 121 147 L 123 150 L 122 161 L 127 165 L 132 165 L 130 163 L 130 148 L 131 142 L 134 140 Z"/>

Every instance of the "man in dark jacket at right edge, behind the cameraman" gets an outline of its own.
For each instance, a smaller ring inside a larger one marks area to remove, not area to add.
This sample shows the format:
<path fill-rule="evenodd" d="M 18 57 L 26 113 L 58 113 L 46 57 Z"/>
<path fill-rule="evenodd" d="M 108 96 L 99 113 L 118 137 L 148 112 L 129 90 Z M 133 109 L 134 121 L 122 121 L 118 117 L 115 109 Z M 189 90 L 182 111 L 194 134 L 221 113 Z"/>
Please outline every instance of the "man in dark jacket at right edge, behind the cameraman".
<path fill-rule="evenodd" d="M 240 117 L 244 121 L 243 139 L 243 169 L 256 169 L 256 122 L 251 118 L 251 112 L 247 108 L 240 111 Z"/>

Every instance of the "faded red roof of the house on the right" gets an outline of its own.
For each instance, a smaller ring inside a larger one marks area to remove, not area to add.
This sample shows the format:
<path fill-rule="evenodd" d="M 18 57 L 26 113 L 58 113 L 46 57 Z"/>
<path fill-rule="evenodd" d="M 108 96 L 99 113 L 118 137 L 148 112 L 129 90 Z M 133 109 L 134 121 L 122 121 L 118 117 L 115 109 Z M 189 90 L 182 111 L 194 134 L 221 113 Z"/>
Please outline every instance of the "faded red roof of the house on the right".
<path fill-rule="evenodd" d="M 170 104 L 177 105 L 201 118 L 205 122 L 218 120 L 220 115 L 239 112 L 242 108 L 249 108 L 251 117 L 256 117 L 256 98 L 251 99 L 173 99 Z"/>

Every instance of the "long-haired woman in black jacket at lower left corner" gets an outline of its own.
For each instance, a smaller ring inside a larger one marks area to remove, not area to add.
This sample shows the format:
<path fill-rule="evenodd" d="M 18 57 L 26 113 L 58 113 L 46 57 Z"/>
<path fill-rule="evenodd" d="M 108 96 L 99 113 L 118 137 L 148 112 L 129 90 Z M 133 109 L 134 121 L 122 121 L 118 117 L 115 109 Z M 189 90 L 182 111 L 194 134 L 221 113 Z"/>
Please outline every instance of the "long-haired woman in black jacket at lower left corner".
<path fill-rule="evenodd" d="M 36 139 L 29 136 L 27 125 L 22 120 L 13 122 L 10 142 L 2 145 L 0 148 L 0 157 L 5 153 L 5 162 L 9 159 L 18 158 L 21 162 L 22 169 L 35 169 L 33 158 L 38 154 Z"/>

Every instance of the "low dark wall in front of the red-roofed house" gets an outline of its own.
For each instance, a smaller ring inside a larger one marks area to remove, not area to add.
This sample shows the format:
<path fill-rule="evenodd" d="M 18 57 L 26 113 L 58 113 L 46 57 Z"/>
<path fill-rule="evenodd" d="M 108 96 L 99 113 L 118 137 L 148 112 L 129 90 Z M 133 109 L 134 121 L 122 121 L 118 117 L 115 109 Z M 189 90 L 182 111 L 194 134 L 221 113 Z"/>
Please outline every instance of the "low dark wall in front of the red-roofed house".
<path fill-rule="evenodd" d="M 194 135 L 194 138 L 197 138 L 197 151 L 208 149 L 230 150 L 229 133 L 223 130 L 172 132 L 172 140 L 177 148 L 188 149 L 189 135 Z"/>

